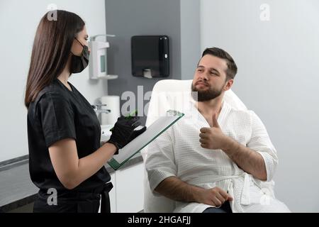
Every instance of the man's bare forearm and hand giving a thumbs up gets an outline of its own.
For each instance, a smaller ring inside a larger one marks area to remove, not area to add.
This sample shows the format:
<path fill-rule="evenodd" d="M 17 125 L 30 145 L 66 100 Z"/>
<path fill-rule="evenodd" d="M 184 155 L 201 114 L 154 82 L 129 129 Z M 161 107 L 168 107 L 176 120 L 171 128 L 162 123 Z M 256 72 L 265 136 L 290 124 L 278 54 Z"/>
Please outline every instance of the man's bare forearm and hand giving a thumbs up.
<path fill-rule="evenodd" d="M 257 179 L 267 180 L 267 170 L 262 155 L 225 135 L 218 125 L 216 114 L 213 115 L 213 127 L 201 128 L 199 136 L 202 148 L 223 150 L 242 170 Z"/>

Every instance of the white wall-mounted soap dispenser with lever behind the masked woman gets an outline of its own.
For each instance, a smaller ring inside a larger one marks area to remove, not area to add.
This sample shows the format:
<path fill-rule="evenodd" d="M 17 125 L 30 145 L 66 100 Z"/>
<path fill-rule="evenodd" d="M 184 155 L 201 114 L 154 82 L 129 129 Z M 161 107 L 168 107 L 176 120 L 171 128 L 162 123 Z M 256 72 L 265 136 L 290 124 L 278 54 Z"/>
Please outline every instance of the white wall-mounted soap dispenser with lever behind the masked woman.
<path fill-rule="evenodd" d="M 89 77 L 90 79 L 116 79 L 117 75 L 108 74 L 107 67 L 107 51 L 106 49 L 110 46 L 107 41 L 96 41 L 99 36 L 110 36 L 115 35 L 94 35 L 89 41 L 89 48 L 91 49 L 89 58 Z"/>

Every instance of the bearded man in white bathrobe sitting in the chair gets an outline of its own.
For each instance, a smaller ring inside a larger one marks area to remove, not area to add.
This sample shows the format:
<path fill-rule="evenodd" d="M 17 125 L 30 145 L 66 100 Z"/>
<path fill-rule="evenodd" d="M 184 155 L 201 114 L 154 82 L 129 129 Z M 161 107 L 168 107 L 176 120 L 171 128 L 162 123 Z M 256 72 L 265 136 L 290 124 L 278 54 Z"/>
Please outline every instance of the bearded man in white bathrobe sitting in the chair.
<path fill-rule="evenodd" d="M 274 197 L 278 157 L 262 121 L 223 101 L 236 73 L 228 52 L 204 50 L 197 105 L 147 148 L 150 189 L 176 201 L 175 212 L 289 212 Z"/>

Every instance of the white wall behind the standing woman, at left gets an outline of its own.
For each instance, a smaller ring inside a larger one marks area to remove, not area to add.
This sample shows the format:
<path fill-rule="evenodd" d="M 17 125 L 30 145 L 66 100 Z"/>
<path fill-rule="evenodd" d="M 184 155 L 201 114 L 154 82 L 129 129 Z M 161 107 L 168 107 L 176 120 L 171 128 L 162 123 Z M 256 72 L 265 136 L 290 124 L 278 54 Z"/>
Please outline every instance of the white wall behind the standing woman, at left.
<path fill-rule="evenodd" d="M 1 0 L 0 1 L 0 162 L 28 154 L 26 107 L 23 105 L 26 77 L 35 30 L 47 6 L 77 13 L 86 22 L 89 35 L 106 33 L 104 0 Z M 90 81 L 89 70 L 73 74 L 70 82 L 91 103 L 107 94 L 106 81 Z"/>

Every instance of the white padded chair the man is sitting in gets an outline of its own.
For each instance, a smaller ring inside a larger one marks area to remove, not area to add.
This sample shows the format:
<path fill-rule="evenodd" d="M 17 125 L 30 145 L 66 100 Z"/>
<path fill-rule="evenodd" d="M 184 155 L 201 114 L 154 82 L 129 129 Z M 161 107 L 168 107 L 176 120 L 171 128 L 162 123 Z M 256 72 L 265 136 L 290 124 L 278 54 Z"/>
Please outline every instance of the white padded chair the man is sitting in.
<path fill-rule="evenodd" d="M 182 111 L 184 101 L 191 99 L 192 80 L 162 79 L 157 82 L 152 90 L 149 109 L 147 113 L 146 126 L 150 126 L 158 116 L 161 116 L 169 109 Z M 184 99 L 179 101 L 179 99 Z M 224 101 L 235 109 L 247 109 L 245 104 L 240 101 L 236 94 L 228 90 L 225 92 Z M 147 158 L 147 148 L 142 151 L 145 163 Z M 144 177 L 144 212 L 169 213 L 174 211 L 175 203 L 171 199 L 150 190 L 150 184 L 145 170 Z"/>

